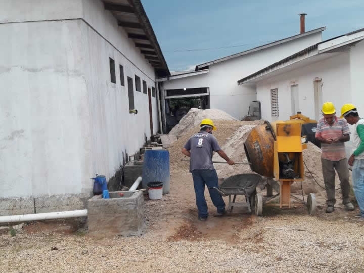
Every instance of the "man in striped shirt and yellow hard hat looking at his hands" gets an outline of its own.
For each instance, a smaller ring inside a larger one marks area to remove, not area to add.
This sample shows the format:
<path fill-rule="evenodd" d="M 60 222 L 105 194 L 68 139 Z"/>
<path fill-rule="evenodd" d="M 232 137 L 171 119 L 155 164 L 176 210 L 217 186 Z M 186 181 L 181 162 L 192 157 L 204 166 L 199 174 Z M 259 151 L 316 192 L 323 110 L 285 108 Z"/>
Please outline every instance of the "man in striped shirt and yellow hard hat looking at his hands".
<path fill-rule="evenodd" d="M 327 194 L 327 213 L 335 210 L 335 169 L 339 175 L 342 200 L 346 210 L 354 210 L 349 198 L 349 169 L 344 142 L 350 140 L 350 130 L 345 119 L 336 117 L 333 103 L 322 107 L 323 117 L 317 122 L 315 138 L 322 146 L 322 170 Z"/>

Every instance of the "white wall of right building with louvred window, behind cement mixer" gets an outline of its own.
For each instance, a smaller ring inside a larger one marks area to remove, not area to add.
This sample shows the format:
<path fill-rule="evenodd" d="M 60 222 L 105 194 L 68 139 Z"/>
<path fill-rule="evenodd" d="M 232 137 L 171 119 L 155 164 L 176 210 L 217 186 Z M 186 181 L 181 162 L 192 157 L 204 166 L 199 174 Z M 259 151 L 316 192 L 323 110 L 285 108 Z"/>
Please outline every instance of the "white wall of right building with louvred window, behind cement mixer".
<path fill-rule="evenodd" d="M 332 56 L 332 55 L 331 55 Z M 257 100 L 261 102 L 262 119 L 288 120 L 291 116 L 291 85 L 298 84 L 299 105 L 303 115 L 314 118 L 313 80 L 322 78 L 323 102 L 331 101 L 337 113 L 350 100 L 349 53 L 310 63 L 290 72 L 257 82 Z M 278 88 L 279 118 L 271 117 L 270 89 Z"/>

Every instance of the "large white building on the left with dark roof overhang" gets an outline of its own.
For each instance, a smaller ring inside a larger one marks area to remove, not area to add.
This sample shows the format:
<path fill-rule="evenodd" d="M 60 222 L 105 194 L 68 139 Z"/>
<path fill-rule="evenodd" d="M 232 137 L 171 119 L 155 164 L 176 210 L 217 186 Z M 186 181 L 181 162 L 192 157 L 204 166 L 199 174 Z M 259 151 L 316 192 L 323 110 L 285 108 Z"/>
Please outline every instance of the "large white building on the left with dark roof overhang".
<path fill-rule="evenodd" d="M 156 36 L 140 0 L 0 6 L 0 215 L 82 207 L 159 129 Z"/>

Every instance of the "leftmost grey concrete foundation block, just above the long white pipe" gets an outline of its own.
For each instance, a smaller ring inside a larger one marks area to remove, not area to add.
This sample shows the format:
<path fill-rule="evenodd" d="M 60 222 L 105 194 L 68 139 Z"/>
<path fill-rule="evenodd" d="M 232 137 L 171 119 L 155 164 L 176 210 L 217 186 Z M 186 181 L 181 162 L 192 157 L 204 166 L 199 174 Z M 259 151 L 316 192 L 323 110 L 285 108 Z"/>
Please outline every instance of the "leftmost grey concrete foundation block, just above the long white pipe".
<path fill-rule="evenodd" d="M 33 197 L 0 198 L 0 216 L 34 213 Z"/>

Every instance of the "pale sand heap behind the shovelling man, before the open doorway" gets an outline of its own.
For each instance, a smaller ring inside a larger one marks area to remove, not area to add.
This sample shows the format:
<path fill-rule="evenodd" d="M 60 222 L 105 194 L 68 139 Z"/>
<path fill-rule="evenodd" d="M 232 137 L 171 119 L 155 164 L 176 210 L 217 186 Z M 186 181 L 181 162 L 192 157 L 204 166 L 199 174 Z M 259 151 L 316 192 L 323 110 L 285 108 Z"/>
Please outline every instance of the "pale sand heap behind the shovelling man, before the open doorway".
<path fill-rule="evenodd" d="M 228 113 L 225 113 L 224 111 L 218 109 L 201 110 L 197 108 L 191 108 L 186 116 L 181 118 L 179 123 L 175 125 L 169 133 L 176 135 L 183 134 L 190 128 L 199 125 L 201 120 L 203 120 L 204 118 L 212 119 L 214 122 L 216 120 L 237 120 Z"/>

